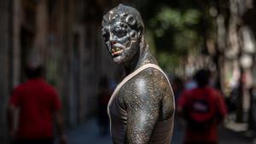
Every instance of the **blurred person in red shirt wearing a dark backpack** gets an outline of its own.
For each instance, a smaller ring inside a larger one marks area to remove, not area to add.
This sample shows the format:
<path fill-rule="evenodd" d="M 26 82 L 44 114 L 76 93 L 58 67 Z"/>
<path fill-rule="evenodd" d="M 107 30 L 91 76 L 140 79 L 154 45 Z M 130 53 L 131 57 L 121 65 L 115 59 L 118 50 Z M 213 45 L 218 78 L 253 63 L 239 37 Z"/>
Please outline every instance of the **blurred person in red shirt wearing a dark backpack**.
<path fill-rule="evenodd" d="M 177 102 L 177 112 L 187 121 L 183 144 L 218 143 L 218 124 L 227 109 L 223 95 L 209 86 L 209 78 L 208 70 L 196 72 L 198 87 L 184 91 Z"/>

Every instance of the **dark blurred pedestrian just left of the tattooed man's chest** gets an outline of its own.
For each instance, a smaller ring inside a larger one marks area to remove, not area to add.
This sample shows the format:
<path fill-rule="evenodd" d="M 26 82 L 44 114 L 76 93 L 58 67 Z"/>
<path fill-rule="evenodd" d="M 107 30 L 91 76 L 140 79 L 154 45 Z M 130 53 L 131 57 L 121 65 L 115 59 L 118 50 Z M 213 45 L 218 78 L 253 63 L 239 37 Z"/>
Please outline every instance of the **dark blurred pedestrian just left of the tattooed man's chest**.
<path fill-rule="evenodd" d="M 100 79 L 100 90 L 98 93 L 98 125 L 100 128 L 100 135 L 108 134 L 108 101 L 111 97 L 112 90 L 107 77 Z"/>

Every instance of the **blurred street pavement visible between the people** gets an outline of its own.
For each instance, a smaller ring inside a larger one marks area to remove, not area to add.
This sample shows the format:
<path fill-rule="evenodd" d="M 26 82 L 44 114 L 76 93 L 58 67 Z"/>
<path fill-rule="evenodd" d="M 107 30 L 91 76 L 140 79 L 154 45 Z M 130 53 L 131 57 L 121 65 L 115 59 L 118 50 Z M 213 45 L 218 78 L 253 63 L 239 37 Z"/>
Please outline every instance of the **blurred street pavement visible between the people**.
<path fill-rule="evenodd" d="M 183 123 L 177 122 L 174 126 L 172 144 L 182 144 Z M 112 144 L 110 135 L 100 135 L 96 119 L 92 118 L 84 124 L 67 132 L 69 144 Z M 251 139 L 246 138 L 241 133 L 219 129 L 219 144 L 254 144 Z M 256 144 L 256 143 L 255 143 Z"/>

